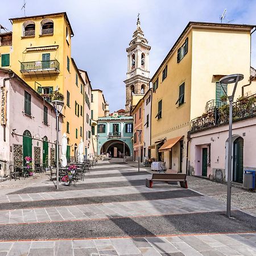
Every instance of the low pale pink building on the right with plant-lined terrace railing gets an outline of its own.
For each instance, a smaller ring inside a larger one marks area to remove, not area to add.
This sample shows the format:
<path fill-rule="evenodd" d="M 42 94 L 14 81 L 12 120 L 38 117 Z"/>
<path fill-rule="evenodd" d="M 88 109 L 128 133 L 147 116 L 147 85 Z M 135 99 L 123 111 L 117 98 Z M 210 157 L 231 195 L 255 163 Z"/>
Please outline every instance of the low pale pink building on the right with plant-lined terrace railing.
<path fill-rule="evenodd" d="M 188 172 L 226 181 L 228 170 L 228 108 L 213 108 L 191 123 Z M 256 94 L 234 102 L 232 181 L 243 183 L 245 170 L 256 170 Z"/>

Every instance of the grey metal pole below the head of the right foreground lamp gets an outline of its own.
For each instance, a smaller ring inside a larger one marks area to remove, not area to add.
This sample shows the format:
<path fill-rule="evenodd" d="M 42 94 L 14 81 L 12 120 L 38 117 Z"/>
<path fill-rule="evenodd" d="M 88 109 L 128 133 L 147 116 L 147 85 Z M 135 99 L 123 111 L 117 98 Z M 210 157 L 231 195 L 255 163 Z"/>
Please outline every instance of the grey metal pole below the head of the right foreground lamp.
<path fill-rule="evenodd" d="M 231 168 L 232 168 L 232 110 L 233 110 L 233 99 L 229 100 L 229 151 L 228 151 L 228 191 L 226 201 L 226 216 L 230 218 L 231 208 Z"/>

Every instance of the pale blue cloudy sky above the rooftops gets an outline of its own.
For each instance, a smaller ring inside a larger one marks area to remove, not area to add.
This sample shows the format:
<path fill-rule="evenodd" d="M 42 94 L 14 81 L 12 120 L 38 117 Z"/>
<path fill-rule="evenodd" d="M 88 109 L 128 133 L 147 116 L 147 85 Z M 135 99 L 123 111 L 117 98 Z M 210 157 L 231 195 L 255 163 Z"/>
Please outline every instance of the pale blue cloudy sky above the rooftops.
<path fill-rule="evenodd" d="M 24 16 L 24 0 L 0 0 L 0 24 Z M 75 36 L 71 55 L 88 72 L 93 89 L 104 91 L 110 112 L 125 108 L 127 53 L 137 15 L 151 46 L 150 77 L 189 21 L 256 24 L 256 0 L 26 0 L 26 16 L 66 11 Z M 256 33 L 251 65 L 256 67 Z"/>

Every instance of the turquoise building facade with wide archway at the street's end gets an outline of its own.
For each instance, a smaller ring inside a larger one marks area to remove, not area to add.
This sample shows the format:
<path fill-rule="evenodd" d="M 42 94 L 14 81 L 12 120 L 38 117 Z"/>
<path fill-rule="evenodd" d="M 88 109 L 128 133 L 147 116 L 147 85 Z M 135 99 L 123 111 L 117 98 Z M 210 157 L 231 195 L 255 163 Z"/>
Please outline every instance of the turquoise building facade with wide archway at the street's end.
<path fill-rule="evenodd" d="M 133 155 L 133 117 L 118 115 L 98 118 L 98 155 L 114 158 Z"/>

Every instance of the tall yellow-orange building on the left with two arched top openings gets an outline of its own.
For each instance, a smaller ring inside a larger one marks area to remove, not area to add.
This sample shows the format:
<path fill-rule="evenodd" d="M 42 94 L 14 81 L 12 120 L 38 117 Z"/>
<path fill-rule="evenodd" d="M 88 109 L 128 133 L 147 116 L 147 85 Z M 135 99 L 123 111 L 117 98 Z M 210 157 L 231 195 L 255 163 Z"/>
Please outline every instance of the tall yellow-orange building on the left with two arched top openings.
<path fill-rule="evenodd" d="M 46 100 L 64 96 L 62 133 L 67 158 L 77 156 L 84 138 L 85 82 L 71 58 L 74 35 L 66 13 L 11 18 L 13 32 L 0 34 L 1 67 L 10 68 Z M 57 92 L 57 93 L 56 93 Z"/>

